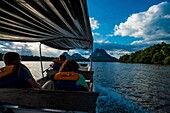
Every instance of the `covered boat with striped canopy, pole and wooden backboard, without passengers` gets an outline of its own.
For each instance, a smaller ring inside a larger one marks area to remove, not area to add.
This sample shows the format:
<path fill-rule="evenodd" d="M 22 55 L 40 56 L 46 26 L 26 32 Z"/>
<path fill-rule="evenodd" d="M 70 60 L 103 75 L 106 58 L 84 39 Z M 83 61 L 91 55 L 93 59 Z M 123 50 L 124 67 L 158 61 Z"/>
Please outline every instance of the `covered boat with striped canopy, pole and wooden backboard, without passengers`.
<path fill-rule="evenodd" d="M 0 41 L 38 42 L 40 61 L 41 44 L 59 50 L 92 50 L 87 1 L 0 0 Z M 91 92 L 1 88 L 0 112 L 95 112 L 99 93 L 93 90 L 93 71 L 82 67 Z"/>

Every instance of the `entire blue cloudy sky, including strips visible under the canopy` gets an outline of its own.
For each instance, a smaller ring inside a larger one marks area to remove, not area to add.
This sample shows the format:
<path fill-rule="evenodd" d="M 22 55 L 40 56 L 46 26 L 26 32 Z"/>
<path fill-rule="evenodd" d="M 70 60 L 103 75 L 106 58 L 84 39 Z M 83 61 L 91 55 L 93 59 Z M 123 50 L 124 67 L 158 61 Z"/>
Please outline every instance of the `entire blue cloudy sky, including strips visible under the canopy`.
<path fill-rule="evenodd" d="M 119 58 L 153 44 L 170 44 L 170 0 L 87 0 L 94 50 L 105 49 Z M 1 50 L 39 55 L 37 44 L 0 42 Z M 43 47 L 44 56 L 63 51 Z M 69 51 L 69 54 L 78 52 Z M 82 55 L 89 51 L 79 51 Z"/>

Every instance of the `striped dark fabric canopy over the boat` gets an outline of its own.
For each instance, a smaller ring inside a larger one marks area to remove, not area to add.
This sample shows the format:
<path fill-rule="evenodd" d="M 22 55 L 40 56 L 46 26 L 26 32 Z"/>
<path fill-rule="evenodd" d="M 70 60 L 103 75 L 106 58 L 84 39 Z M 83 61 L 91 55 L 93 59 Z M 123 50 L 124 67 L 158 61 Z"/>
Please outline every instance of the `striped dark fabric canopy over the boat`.
<path fill-rule="evenodd" d="M 86 0 L 0 0 L 0 40 L 91 49 Z"/>

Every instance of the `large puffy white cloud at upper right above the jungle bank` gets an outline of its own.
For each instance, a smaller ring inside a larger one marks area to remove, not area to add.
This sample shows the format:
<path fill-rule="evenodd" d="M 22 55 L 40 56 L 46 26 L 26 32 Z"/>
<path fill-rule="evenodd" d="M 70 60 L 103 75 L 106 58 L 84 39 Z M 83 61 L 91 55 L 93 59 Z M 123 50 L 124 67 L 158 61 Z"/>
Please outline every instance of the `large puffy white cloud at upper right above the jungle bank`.
<path fill-rule="evenodd" d="M 170 40 L 170 3 L 162 2 L 151 6 L 147 11 L 132 14 L 126 22 L 116 25 L 114 35 L 144 38 L 132 44 L 169 42 Z"/>

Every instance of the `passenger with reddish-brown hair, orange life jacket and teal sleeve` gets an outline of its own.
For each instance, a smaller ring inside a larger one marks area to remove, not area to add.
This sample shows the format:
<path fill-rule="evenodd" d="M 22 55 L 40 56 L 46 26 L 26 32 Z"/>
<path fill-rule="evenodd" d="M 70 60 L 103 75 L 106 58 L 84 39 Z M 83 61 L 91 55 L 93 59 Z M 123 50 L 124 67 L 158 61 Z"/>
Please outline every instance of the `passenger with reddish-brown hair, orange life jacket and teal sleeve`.
<path fill-rule="evenodd" d="M 54 76 L 56 88 L 61 90 L 89 91 L 84 76 L 77 73 L 78 68 L 79 64 L 73 60 L 64 62 L 59 72 Z"/>

